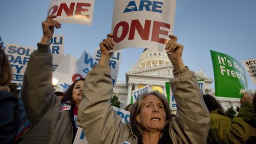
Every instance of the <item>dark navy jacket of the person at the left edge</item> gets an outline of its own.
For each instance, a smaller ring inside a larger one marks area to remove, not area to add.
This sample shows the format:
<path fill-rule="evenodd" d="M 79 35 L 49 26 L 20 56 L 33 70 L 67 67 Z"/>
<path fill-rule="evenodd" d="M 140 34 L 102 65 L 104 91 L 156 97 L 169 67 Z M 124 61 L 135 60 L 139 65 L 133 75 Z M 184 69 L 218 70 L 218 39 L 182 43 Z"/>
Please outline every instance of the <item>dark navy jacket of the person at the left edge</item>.
<path fill-rule="evenodd" d="M 0 143 L 14 143 L 17 133 L 17 97 L 13 93 L 0 91 L 0 107 Z"/>

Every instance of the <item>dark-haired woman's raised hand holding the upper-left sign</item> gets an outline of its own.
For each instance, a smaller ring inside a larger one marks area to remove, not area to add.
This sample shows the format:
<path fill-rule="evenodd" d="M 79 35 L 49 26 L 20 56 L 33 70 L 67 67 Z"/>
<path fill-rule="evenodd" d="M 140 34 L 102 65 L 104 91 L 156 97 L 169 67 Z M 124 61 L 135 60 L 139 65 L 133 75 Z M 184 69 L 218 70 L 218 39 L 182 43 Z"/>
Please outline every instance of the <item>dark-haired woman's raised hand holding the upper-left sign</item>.
<path fill-rule="evenodd" d="M 56 18 L 56 15 L 50 15 L 47 17 L 46 21 L 42 21 L 42 41 L 41 44 L 49 44 L 51 37 L 54 33 L 54 28 L 59 29 L 61 28 L 61 23 L 57 20 L 53 19 Z"/>

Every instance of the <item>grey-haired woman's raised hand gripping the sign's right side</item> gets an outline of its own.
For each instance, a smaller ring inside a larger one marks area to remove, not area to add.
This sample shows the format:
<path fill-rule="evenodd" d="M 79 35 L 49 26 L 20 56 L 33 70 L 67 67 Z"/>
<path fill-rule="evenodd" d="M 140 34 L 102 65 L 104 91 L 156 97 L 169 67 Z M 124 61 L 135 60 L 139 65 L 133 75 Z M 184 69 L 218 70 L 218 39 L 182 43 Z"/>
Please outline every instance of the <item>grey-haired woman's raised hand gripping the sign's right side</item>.
<path fill-rule="evenodd" d="M 175 70 L 180 70 L 185 68 L 182 60 L 182 53 L 184 46 L 177 42 L 177 37 L 174 35 L 169 35 L 170 40 L 165 46 L 166 53 L 169 57 L 170 62 L 172 62 Z"/>

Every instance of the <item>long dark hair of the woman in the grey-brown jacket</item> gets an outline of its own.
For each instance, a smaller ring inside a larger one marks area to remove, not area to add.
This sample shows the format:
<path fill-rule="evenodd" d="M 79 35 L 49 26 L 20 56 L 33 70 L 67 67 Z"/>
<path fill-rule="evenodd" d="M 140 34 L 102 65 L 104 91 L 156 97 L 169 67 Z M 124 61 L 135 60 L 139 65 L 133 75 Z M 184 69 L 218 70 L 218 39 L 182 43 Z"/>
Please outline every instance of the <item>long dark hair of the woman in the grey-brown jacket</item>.
<path fill-rule="evenodd" d="M 76 80 L 72 85 L 70 85 L 68 87 L 68 89 L 64 92 L 63 94 L 63 99 L 61 100 L 62 102 L 67 102 L 67 101 L 71 101 L 71 109 L 74 108 L 75 106 L 75 101 L 72 97 L 72 94 L 73 94 L 73 88 L 74 88 L 74 85 L 76 84 L 76 82 L 78 81 L 84 81 L 84 78 L 80 78 L 78 80 Z"/>

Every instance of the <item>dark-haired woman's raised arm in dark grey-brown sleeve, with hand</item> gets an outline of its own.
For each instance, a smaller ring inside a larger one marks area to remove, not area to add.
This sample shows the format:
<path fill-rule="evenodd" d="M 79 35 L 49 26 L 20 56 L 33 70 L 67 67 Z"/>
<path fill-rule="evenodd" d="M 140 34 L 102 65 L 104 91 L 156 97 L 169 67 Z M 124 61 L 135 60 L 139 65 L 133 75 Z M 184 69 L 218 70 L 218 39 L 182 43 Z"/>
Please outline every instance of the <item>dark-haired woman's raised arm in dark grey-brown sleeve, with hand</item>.
<path fill-rule="evenodd" d="M 55 28 L 60 28 L 55 18 L 48 16 L 48 21 L 42 22 L 43 37 L 37 43 L 38 49 L 30 56 L 24 75 L 22 100 L 24 102 L 31 127 L 53 106 L 52 55 L 49 52 L 50 39 Z M 49 22 L 50 21 L 50 22 Z"/>

